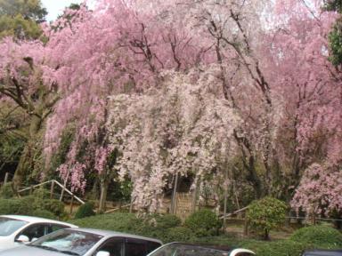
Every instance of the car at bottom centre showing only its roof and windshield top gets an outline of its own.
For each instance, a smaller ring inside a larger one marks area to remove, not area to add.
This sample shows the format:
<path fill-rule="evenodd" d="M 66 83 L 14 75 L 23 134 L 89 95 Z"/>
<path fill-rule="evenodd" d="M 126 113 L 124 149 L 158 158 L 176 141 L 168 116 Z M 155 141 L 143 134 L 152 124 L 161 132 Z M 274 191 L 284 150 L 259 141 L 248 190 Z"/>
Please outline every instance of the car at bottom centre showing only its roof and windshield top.
<path fill-rule="evenodd" d="M 247 249 L 229 249 L 199 244 L 165 244 L 147 256 L 251 256 L 254 252 Z"/>

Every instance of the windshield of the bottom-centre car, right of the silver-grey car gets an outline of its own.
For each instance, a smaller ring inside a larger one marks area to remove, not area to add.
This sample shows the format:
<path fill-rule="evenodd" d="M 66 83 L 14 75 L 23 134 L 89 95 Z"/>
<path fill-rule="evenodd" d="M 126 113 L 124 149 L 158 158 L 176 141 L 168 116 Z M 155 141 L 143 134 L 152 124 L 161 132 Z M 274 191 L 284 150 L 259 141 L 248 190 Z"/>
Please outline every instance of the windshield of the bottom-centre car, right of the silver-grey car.
<path fill-rule="evenodd" d="M 227 256 L 228 252 L 218 251 L 197 245 L 167 244 L 149 256 Z"/>

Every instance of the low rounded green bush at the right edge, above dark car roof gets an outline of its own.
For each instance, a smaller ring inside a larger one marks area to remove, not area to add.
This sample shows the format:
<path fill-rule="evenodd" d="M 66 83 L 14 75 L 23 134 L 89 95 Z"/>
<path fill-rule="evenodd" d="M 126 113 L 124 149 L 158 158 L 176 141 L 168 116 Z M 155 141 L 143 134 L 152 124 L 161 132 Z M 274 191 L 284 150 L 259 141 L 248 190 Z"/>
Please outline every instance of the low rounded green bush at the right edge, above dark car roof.
<path fill-rule="evenodd" d="M 314 244 L 314 247 L 320 248 L 342 247 L 342 234 L 329 226 L 299 228 L 289 239 L 299 243 Z"/>

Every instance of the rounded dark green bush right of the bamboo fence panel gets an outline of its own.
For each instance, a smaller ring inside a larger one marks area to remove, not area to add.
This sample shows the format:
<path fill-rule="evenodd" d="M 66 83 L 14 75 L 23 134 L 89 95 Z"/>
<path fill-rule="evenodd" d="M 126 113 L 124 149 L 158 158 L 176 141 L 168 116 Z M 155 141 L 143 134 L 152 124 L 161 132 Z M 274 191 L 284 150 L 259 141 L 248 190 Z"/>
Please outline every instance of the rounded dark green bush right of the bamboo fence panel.
<path fill-rule="evenodd" d="M 196 236 L 213 236 L 218 234 L 222 227 L 222 221 L 218 219 L 215 212 L 208 209 L 192 213 L 184 223 Z"/>

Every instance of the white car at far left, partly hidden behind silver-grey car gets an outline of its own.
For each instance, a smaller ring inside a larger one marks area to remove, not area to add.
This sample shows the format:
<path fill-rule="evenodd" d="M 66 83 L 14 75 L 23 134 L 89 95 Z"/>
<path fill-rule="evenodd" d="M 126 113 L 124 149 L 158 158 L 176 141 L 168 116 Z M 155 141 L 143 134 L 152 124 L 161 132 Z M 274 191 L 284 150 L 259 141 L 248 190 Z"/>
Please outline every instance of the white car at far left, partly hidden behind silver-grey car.
<path fill-rule="evenodd" d="M 77 226 L 37 217 L 0 215 L 0 251 L 32 242 L 61 228 Z"/>

